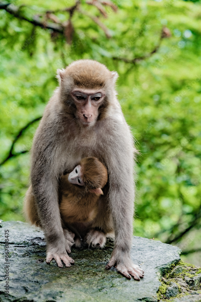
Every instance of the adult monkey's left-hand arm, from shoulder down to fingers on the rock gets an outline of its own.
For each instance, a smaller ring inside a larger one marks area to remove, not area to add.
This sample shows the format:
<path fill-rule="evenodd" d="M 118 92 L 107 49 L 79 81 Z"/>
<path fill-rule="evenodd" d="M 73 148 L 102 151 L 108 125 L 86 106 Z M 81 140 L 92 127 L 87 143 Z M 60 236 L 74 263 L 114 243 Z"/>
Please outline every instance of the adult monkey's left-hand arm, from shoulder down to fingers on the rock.
<path fill-rule="evenodd" d="M 60 171 L 55 160 L 57 140 L 53 137 L 55 133 L 50 131 L 53 127 L 43 127 L 43 120 L 38 129 L 32 148 L 31 182 L 39 220 L 46 236 L 46 262 L 49 263 L 54 258 L 59 267 L 63 267 L 61 260 L 66 266 L 71 266 L 70 263 L 74 263 L 74 260 L 66 252 L 71 250 L 61 226 L 58 206 Z"/>

